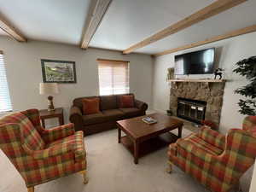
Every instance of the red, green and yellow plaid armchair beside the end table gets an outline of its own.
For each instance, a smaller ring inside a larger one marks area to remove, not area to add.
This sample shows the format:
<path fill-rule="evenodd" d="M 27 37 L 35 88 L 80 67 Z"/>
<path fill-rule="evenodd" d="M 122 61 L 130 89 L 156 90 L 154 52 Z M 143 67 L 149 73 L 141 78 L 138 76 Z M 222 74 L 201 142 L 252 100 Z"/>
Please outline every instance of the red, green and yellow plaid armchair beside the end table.
<path fill-rule="evenodd" d="M 85 177 L 86 154 L 83 131 L 73 124 L 45 130 L 37 109 L 13 113 L 0 119 L 0 148 L 25 180 L 34 186 L 81 172 Z"/>

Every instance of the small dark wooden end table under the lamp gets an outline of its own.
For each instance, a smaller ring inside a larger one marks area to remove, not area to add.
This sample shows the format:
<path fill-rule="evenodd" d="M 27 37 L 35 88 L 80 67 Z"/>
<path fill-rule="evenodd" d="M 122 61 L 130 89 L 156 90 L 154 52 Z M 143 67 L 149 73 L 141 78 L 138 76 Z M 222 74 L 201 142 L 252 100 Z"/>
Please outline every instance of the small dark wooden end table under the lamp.
<path fill-rule="evenodd" d="M 42 125 L 45 128 L 45 119 L 58 118 L 59 125 L 64 125 L 63 108 L 55 108 L 54 111 L 48 111 L 47 109 L 39 110 L 39 116 L 42 121 Z"/>

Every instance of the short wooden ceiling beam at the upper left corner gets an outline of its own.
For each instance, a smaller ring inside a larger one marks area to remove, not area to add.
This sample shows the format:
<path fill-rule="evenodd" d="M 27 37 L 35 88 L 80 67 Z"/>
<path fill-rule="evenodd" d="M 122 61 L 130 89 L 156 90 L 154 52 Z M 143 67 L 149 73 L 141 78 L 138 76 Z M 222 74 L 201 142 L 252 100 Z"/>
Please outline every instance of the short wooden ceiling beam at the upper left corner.
<path fill-rule="evenodd" d="M 26 42 L 26 38 L 21 35 L 14 26 L 10 25 L 9 22 L 3 18 L 3 15 L 0 15 L 0 28 L 18 42 Z"/>

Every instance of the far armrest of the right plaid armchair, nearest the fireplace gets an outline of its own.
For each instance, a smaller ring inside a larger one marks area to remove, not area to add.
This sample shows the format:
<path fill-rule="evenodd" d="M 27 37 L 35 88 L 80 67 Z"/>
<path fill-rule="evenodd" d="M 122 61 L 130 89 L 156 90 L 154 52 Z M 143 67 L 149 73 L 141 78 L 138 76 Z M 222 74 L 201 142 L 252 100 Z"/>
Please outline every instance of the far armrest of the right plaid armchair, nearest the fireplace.
<path fill-rule="evenodd" d="M 212 144 L 217 148 L 224 150 L 225 147 L 225 136 L 220 134 L 218 131 L 214 131 L 207 126 L 203 126 L 201 131 L 196 134 L 197 137 L 200 137 L 207 143 Z"/>

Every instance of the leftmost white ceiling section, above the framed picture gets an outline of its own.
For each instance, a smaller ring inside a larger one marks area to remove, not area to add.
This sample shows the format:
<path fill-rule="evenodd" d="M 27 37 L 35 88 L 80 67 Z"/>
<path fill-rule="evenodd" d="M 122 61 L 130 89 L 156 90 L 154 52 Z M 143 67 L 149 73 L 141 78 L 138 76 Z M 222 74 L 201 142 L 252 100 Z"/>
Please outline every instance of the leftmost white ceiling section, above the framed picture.
<path fill-rule="evenodd" d="M 28 39 L 79 44 L 90 0 L 0 0 L 0 13 Z"/>

